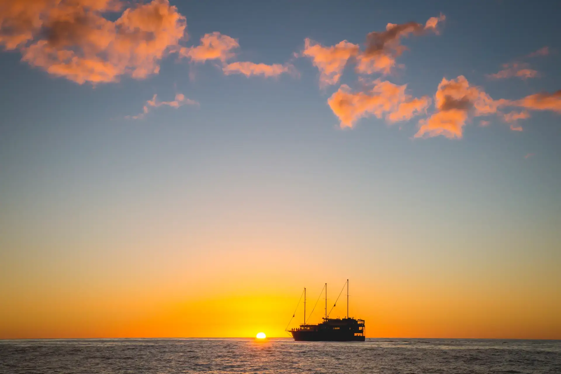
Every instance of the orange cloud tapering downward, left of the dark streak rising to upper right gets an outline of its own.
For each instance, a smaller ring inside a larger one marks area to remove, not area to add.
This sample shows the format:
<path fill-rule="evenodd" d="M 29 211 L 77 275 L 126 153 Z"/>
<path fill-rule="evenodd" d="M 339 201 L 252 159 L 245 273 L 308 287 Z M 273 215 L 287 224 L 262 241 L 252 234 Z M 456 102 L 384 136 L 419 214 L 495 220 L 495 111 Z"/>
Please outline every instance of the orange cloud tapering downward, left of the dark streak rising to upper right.
<path fill-rule="evenodd" d="M 302 56 L 310 57 L 320 72 L 320 86 L 336 84 L 347 61 L 358 54 L 358 45 L 343 40 L 331 47 L 324 47 L 308 38 L 304 41 Z"/>

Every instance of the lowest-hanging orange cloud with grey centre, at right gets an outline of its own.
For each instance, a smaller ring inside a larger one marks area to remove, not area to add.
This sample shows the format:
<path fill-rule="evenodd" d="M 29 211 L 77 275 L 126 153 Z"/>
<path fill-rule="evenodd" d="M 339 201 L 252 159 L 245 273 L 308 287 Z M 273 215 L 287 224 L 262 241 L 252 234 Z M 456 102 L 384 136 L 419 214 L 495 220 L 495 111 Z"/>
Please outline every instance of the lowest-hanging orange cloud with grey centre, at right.
<path fill-rule="evenodd" d="M 508 103 L 504 99 L 493 100 L 480 87 L 470 86 L 462 75 L 452 80 L 443 78 L 435 94 L 436 112 L 419 121 L 415 137 L 461 138 L 468 118 L 494 114 Z"/>

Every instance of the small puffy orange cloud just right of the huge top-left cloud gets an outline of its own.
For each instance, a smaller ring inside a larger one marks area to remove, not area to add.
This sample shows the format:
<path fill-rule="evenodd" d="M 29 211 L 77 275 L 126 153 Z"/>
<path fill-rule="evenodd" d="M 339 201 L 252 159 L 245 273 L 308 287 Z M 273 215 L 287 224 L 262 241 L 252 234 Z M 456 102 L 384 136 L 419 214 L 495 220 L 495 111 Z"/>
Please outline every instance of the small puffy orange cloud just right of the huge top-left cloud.
<path fill-rule="evenodd" d="M 192 61 L 205 62 L 206 60 L 218 59 L 226 62 L 236 56 L 232 49 L 240 47 L 238 41 L 228 35 L 222 35 L 218 31 L 205 34 L 201 38 L 200 45 L 191 48 L 181 48 L 180 55 L 190 58 Z"/>

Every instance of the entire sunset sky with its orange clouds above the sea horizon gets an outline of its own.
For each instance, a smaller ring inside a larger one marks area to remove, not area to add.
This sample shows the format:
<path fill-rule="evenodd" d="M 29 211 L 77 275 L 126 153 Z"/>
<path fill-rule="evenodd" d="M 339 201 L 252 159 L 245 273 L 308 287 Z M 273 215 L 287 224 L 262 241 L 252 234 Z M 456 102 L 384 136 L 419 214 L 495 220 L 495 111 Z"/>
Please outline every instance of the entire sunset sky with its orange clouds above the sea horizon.
<path fill-rule="evenodd" d="M 0 0 L 0 339 L 561 339 L 560 13 Z"/>

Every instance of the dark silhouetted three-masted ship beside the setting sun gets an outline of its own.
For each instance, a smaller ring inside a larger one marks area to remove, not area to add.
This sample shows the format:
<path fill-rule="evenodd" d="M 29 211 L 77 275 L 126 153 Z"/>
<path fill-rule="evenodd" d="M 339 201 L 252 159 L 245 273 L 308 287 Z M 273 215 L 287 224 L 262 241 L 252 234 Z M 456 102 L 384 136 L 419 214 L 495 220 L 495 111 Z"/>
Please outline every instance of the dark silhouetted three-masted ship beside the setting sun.
<path fill-rule="evenodd" d="M 327 283 L 325 283 L 324 285 L 325 317 L 322 317 L 321 318 L 322 322 L 317 325 L 311 325 L 306 323 L 307 322 L 306 288 L 304 288 L 304 324 L 290 330 L 288 330 L 288 326 L 287 326 L 286 329 L 286 331 L 292 335 L 292 338 L 294 338 L 294 340 L 296 341 L 365 341 L 364 320 L 349 317 L 348 279 L 345 285 L 347 286 L 347 316 L 345 318 L 329 318 L 329 313 L 327 311 Z M 345 285 L 343 285 L 343 289 Z M 343 289 L 341 289 L 341 292 L 343 292 Z M 323 292 L 323 289 L 321 291 Z M 339 297 L 341 297 L 341 293 L 339 293 Z M 333 311 L 333 308 L 335 307 L 335 305 L 337 305 L 337 301 L 339 300 L 339 297 L 337 297 L 337 300 L 335 300 L 335 303 L 333 304 L 331 311 Z M 300 297 L 300 299 L 302 299 L 302 297 Z M 299 304 L 300 301 L 298 301 L 298 305 Z M 296 308 L 298 308 L 298 306 Z M 314 310 L 312 309 L 312 313 L 313 312 Z M 296 310 L 295 313 L 292 315 L 292 317 L 295 317 L 295 315 L 296 315 Z M 310 318 L 310 316 L 308 316 L 308 318 Z M 288 325 L 290 325 L 290 322 L 288 322 Z"/>

